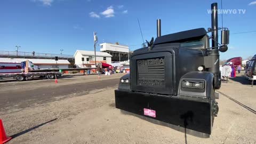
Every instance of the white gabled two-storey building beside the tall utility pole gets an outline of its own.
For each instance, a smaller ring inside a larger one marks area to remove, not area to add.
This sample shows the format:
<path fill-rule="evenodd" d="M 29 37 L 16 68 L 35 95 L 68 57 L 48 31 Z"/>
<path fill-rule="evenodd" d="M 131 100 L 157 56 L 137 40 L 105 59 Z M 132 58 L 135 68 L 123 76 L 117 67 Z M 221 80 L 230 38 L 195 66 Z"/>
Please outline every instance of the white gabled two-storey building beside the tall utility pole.
<path fill-rule="evenodd" d="M 74 54 L 75 57 L 75 65 L 77 67 L 83 67 L 83 63 L 85 67 L 95 66 L 94 63 L 94 51 L 82 51 L 77 50 Z M 112 55 L 107 52 L 96 52 L 96 62 L 104 62 L 111 65 L 111 57 Z M 84 58 L 84 62 L 82 61 Z"/>

